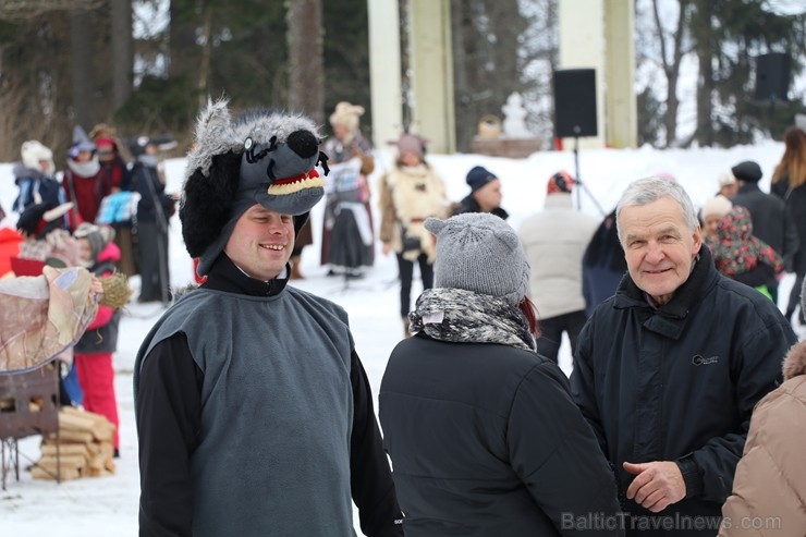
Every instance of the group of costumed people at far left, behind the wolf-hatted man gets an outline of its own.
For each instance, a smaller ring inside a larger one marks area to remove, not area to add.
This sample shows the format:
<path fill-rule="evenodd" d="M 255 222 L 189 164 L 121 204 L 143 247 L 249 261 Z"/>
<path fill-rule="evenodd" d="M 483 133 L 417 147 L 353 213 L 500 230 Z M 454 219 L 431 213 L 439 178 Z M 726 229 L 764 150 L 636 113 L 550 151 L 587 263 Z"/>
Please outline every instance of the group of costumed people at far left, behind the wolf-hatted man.
<path fill-rule="evenodd" d="M 21 157 L 12 169 L 16 231 L 3 229 L 0 276 L 38 277 L 45 267 L 83 267 L 97 278 L 138 274 L 138 302 L 170 302 L 168 218 L 175 199 L 164 193 L 157 139 L 124 144 L 107 124 L 89 135 L 76 125 L 62 171 L 39 141 L 25 142 Z M 99 306 L 74 345 L 59 355 L 60 403 L 106 416 L 115 426 L 115 456 L 120 419 L 112 356 L 120 318 L 119 308 Z"/>

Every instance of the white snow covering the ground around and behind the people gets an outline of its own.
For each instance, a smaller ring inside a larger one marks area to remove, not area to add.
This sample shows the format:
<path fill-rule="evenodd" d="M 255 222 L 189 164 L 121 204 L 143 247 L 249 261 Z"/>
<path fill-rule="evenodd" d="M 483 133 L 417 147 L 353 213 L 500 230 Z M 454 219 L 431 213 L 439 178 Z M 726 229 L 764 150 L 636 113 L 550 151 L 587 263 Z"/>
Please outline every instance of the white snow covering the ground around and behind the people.
<path fill-rule="evenodd" d="M 583 211 L 600 218 L 602 213 L 598 207 L 604 212 L 610 211 L 631 181 L 667 172 L 683 184 L 695 206 L 700 206 L 716 193 L 719 173 L 742 160 L 756 160 L 761 166 L 765 176 L 760 186 L 769 191 L 771 172 L 782 154 L 783 145 L 776 142 L 730 149 L 583 149 L 578 152 L 578 172 L 585 186 L 577 190 L 575 203 L 581 204 Z M 373 175 L 374 181 L 393 158 L 389 152 L 379 152 L 378 157 L 379 166 Z M 502 205 L 510 211 L 510 223 L 514 228 L 530 212 L 542 208 L 546 183 L 551 174 L 562 169 L 577 174 L 573 151 L 536 152 L 526 159 L 433 155 L 428 160 L 444 179 L 452 200 L 459 200 L 467 194 L 464 178 L 472 167 L 480 164 L 496 173 L 502 183 Z M 11 168 L 12 164 L 0 164 L 0 203 L 7 211 L 16 196 Z M 166 170 L 168 191 L 179 192 L 184 159 L 168 160 Z M 347 284 L 338 277 L 326 277 L 327 270 L 319 266 L 321 211 L 320 203 L 312 213 L 315 244 L 306 247 L 302 256 L 302 271 L 306 279 L 292 284 L 330 298 L 347 310 L 358 354 L 377 398 L 387 358 L 403 333 L 398 316 L 396 264 L 393 256 L 384 257 L 378 246 L 376 265 L 365 279 L 351 280 Z M 375 217 L 377 219 L 377 211 Z M 10 215 L 0 225 L 13 225 L 15 219 L 16 215 Z M 192 281 L 193 267 L 182 243 L 176 216 L 172 218 L 170 233 L 171 283 L 173 286 L 184 286 Z M 783 301 L 789 296 L 793 279 L 790 274 L 782 281 L 780 296 Z M 131 283 L 137 288 L 138 278 L 133 278 Z M 415 282 L 414 296 L 419 291 Z M 20 480 L 14 478 L 12 472 L 7 490 L 0 490 L 0 534 L 3 537 L 46 535 L 48 532 L 56 532 L 60 537 L 137 534 L 139 478 L 132 368 L 141 341 L 161 313 L 161 306 L 156 303 L 132 303 L 121 321 L 114 358 L 121 417 L 121 457 L 115 460 L 117 473 L 111 477 L 62 484 L 32 479 L 30 474 L 22 468 L 29 464 L 29 460 L 38 459 L 39 438 L 22 440 Z M 567 341 L 560 351 L 560 365 L 570 374 Z M 361 535 L 361 532 L 357 530 L 357 534 Z"/>

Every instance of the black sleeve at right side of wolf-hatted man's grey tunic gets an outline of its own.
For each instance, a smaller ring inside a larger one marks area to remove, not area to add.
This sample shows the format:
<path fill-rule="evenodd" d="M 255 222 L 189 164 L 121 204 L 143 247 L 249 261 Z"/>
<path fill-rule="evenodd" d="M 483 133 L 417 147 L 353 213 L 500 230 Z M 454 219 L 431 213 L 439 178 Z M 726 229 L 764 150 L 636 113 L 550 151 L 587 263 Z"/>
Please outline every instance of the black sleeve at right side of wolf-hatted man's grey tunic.
<path fill-rule="evenodd" d="M 403 518 L 394 493 L 392 473 L 373 407 L 367 374 L 355 351 L 350 380 L 353 385 L 353 432 L 350 438 L 350 486 L 358 508 L 361 529 L 369 537 L 403 537 Z"/>

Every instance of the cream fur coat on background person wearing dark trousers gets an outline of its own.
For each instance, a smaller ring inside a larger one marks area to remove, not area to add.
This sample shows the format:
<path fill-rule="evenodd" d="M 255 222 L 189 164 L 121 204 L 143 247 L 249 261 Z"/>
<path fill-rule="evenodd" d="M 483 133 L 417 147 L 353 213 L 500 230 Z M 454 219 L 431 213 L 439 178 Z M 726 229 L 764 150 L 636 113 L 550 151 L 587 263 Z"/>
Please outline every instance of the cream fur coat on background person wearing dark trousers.
<path fill-rule="evenodd" d="M 423 227 L 428 217 L 444 218 L 448 200 L 445 185 L 428 164 L 395 167 L 380 179 L 380 240 L 410 260 L 420 253 L 433 263 L 433 235 Z M 415 243 L 404 251 L 403 237 Z"/>

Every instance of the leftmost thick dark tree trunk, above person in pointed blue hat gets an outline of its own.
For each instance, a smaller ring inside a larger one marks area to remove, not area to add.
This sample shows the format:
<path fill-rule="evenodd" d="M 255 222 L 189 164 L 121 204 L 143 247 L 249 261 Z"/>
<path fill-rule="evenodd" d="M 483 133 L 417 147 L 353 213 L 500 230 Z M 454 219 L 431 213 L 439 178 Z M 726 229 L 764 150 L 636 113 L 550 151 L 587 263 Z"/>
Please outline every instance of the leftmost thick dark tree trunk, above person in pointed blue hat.
<path fill-rule="evenodd" d="M 89 129 L 95 122 L 93 81 L 93 42 L 89 13 L 70 12 L 70 81 L 73 103 L 73 123 Z"/>

